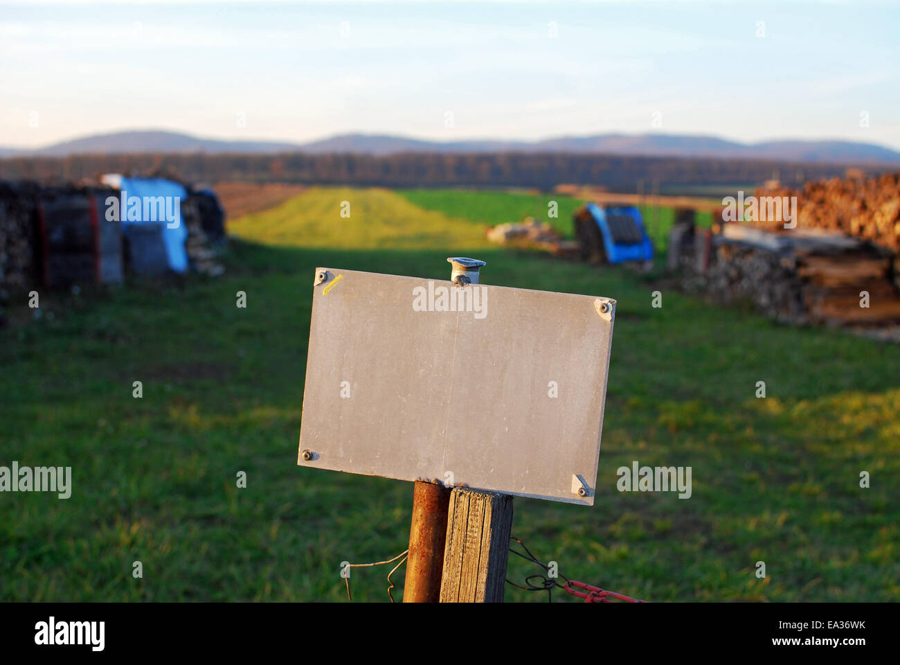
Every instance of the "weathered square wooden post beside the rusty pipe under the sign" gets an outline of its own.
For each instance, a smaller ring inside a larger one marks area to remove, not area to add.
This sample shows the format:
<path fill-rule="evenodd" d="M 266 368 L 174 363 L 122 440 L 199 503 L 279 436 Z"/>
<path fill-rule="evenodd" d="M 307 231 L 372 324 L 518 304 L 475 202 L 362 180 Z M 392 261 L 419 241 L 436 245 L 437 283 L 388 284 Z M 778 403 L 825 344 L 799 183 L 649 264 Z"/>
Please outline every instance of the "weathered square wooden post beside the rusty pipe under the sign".
<path fill-rule="evenodd" d="M 512 496 L 455 487 L 447 515 L 442 603 L 502 603 Z"/>

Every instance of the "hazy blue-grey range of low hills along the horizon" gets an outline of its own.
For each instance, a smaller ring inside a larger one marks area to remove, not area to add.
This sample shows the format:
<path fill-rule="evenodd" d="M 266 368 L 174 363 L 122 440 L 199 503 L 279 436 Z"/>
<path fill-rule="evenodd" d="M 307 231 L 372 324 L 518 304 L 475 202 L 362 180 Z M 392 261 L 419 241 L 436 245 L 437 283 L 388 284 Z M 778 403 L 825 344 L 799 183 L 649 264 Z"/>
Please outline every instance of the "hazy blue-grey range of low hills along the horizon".
<path fill-rule="evenodd" d="M 85 136 L 38 150 L 0 147 L 0 157 L 62 157 L 90 153 L 226 152 L 273 154 L 357 153 L 385 156 L 402 152 L 566 152 L 641 157 L 707 157 L 774 159 L 794 162 L 900 163 L 900 152 L 856 141 L 763 141 L 740 143 L 714 136 L 674 134 L 597 134 L 563 136 L 542 141 L 422 141 L 390 134 L 340 134 L 320 141 L 220 141 L 178 132 L 135 131 Z"/>

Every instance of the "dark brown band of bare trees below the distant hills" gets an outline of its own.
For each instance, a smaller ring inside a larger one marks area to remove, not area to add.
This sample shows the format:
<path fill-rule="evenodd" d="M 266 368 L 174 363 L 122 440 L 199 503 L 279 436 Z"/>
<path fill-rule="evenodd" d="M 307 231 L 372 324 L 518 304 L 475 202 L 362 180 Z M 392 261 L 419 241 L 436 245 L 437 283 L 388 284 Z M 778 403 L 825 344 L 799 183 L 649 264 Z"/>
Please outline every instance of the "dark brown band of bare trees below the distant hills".
<path fill-rule="evenodd" d="M 877 172 L 874 167 L 863 169 Z M 841 177 L 845 166 L 767 159 L 575 155 L 564 153 L 403 153 L 373 155 L 96 154 L 0 159 L 0 178 L 79 182 L 102 173 L 157 173 L 187 182 L 243 180 L 380 187 L 537 187 L 561 183 L 634 192 L 639 181 L 672 185 L 756 183 L 778 176 L 786 185 Z"/>

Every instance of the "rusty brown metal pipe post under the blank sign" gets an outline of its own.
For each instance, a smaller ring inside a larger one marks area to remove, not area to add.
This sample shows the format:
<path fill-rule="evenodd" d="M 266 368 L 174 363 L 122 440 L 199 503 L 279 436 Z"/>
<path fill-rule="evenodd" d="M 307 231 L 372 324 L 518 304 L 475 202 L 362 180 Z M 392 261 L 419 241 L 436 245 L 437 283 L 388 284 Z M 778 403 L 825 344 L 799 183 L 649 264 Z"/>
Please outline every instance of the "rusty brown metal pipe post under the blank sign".
<path fill-rule="evenodd" d="M 404 603 L 437 603 L 440 599 L 449 505 L 450 487 L 416 481 L 412 490 Z"/>

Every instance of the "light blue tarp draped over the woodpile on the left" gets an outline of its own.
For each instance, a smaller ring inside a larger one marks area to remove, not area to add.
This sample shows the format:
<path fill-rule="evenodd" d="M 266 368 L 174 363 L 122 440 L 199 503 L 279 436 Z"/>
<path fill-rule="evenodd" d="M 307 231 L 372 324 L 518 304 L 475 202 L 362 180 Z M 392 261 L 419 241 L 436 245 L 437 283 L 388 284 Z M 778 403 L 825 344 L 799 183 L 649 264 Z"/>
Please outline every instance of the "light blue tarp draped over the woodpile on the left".
<path fill-rule="evenodd" d="M 119 213 L 122 228 L 126 234 L 133 224 L 161 224 L 169 268 L 175 272 L 187 270 L 187 251 L 184 250 L 187 228 L 181 219 L 181 202 L 187 198 L 184 187 L 162 178 L 126 178 L 122 176 L 119 190 L 123 199 L 127 196 L 126 206 L 121 207 Z M 141 202 L 139 212 L 133 205 L 128 205 L 128 202 L 132 201 L 132 196 L 138 197 Z M 165 207 L 159 207 L 159 196 L 164 197 L 162 203 Z M 148 208 L 149 211 L 152 211 L 150 214 L 148 214 Z M 159 214 L 164 210 L 175 213 L 170 215 L 173 219 Z M 176 226 L 175 215 L 177 216 Z"/>

